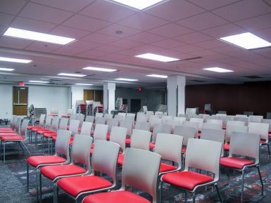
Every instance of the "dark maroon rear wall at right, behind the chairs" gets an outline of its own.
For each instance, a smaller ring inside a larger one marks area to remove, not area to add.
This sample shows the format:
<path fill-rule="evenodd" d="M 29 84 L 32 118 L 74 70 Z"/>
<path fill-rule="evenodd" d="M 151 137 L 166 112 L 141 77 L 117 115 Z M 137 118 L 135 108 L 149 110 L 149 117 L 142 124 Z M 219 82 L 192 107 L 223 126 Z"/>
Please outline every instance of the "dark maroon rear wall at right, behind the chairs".
<path fill-rule="evenodd" d="M 203 110 L 206 103 L 227 114 L 251 111 L 265 116 L 271 112 L 271 82 L 186 86 L 186 107 Z"/>

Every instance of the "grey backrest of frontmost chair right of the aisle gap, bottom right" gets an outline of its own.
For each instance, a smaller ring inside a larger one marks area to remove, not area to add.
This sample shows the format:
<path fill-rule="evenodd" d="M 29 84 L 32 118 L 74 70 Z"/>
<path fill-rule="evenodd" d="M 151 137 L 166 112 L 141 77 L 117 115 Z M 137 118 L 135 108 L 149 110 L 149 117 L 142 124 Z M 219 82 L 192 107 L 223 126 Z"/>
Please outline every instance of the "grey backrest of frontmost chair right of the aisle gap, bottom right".
<path fill-rule="evenodd" d="M 185 157 L 185 169 L 202 169 L 215 174 L 215 181 L 219 179 L 220 154 L 222 144 L 212 140 L 189 139 Z"/>

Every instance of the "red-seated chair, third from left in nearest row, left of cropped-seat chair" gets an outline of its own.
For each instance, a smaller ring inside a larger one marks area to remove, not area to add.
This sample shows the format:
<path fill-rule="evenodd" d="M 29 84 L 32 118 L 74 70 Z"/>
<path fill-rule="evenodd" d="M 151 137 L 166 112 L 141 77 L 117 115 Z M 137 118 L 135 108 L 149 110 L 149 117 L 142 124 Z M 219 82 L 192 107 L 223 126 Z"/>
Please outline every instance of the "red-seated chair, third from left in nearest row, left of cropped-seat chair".
<path fill-rule="evenodd" d="M 106 140 L 96 140 L 92 155 L 92 173 L 87 176 L 75 176 L 61 178 L 56 183 L 55 199 L 58 202 L 58 188 L 68 193 L 74 199 L 81 195 L 94 192 L 104 192 L 116 189 L 117 186 L 117 160 L 120 152 L 120 145 Z M 113 181 L 97 176 L 106 174 Z"/>

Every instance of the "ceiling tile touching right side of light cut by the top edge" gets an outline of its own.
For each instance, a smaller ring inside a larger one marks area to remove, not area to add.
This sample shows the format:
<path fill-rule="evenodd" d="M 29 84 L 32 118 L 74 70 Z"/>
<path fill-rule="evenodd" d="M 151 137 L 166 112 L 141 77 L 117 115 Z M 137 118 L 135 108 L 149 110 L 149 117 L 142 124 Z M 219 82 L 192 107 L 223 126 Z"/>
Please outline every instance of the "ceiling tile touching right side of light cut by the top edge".
<path fill-rule="evenodd" d="M 182 18 L 187 18 L 202 12 L 204 12 L 202 8 L 199 8 L 198 6 L 190 4 L 184 0 L 166 1 L 163 4 L 146 10 L 146 13 L 150 13 L 156 17 L 170 21 L 180 20 Z"/>

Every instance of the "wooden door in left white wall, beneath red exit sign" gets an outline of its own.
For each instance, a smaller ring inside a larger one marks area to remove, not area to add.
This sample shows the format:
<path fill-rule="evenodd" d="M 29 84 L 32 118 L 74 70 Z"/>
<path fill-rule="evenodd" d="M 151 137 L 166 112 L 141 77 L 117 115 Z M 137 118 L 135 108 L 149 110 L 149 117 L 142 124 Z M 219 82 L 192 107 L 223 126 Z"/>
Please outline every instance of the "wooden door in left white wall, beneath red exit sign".
<path fill-rule="evenodd" d="M 13 86 L 13 114 L 27 115 L 28 87 Z"/>

